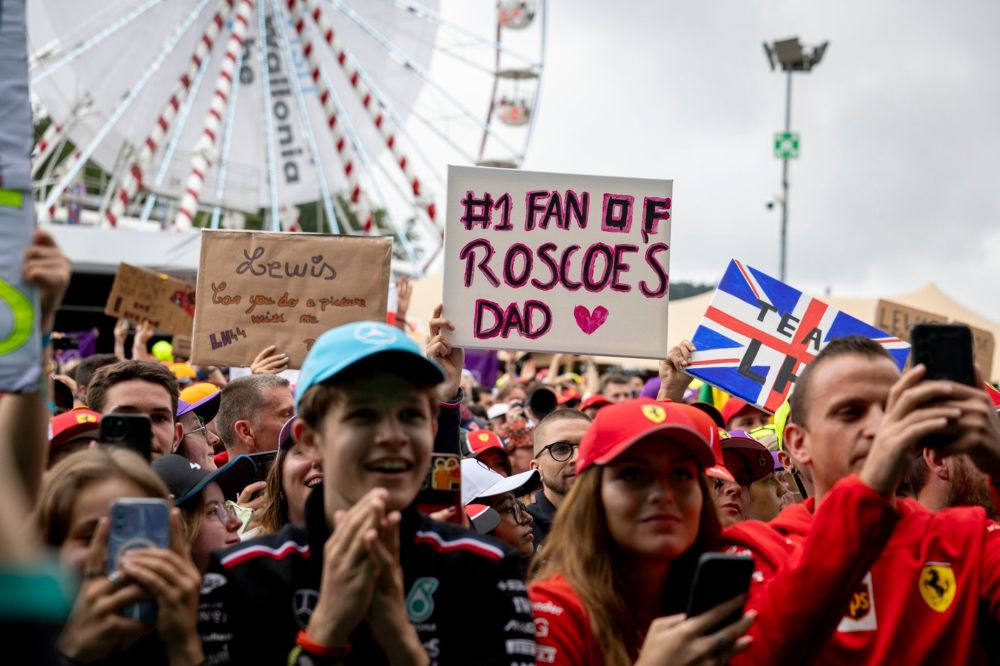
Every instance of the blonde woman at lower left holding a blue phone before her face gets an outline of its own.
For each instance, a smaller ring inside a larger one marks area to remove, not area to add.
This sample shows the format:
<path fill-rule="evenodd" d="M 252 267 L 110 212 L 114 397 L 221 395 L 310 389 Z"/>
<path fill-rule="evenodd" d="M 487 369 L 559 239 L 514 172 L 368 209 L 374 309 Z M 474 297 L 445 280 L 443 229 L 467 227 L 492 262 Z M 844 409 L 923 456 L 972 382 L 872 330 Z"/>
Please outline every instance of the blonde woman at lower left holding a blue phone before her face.
<path fill-rule="evenodd" d="M 173 509 L 170 548 L 132 550 L 108 575 L 108 510 L 115 500 L 167 500 L 166 486 L 136 453 L 120 447 L 77 451 L 45 475 L 34 523 L 42 541 L 81 576 L 80 589 L 57 641 L 72 664 L 199 664 L 198 592 L 201 574 L 191 561 Z M 156 626 L 122 611 L 143 600 L 157 607 Z"/>

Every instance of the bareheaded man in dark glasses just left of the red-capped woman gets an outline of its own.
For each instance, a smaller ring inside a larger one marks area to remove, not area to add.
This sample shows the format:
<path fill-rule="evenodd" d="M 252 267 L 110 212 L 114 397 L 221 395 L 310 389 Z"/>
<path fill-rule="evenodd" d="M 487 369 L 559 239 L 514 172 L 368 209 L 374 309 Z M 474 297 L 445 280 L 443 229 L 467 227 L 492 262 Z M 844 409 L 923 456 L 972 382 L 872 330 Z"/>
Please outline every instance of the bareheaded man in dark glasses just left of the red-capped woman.
<path fill-rule="evenodd" d="M 527 506 L 535 521 L 535 547 L 539 548 L 549 533 L 556 510 L 576 478 L 576 453 L 590 417 L 575 409 L 557 409 L 535 428 L 534 459 L 531 469 L 542 477 L 542 489 Z"/>

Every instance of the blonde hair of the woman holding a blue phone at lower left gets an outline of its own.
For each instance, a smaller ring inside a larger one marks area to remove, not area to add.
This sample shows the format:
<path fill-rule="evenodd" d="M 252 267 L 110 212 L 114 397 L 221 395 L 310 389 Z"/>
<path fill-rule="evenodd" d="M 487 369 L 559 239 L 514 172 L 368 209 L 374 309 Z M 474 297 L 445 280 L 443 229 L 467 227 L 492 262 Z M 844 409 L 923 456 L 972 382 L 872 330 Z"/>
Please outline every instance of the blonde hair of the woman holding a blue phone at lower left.
<path fill-rule="evenodd" d="M 61 546 L 83 489 L 112 479 L 134 483 L 146 497 L 170 498 L 166 484 L 137 453 L 117 446 L 71 453 L 53 465 L 42 482 L 34 522 L 43 541 L 56 548 Z"/>

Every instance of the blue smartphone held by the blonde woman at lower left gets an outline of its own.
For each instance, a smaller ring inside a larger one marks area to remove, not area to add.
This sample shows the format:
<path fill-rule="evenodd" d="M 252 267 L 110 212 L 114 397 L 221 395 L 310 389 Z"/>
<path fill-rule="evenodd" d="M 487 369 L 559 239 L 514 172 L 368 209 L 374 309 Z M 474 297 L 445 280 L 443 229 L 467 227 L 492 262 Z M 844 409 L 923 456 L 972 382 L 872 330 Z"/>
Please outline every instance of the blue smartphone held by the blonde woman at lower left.
<path fill-rule="evenodd" d="M 111 505 L 108 529 L 108 573 L 118 570 L 122 556 L 137 548 L 170 547 L 170 503 L 162 499 L 126 497 Z M 146 624 L 156 623 L 156 604 L 140 601 L 122 614 Z"/>

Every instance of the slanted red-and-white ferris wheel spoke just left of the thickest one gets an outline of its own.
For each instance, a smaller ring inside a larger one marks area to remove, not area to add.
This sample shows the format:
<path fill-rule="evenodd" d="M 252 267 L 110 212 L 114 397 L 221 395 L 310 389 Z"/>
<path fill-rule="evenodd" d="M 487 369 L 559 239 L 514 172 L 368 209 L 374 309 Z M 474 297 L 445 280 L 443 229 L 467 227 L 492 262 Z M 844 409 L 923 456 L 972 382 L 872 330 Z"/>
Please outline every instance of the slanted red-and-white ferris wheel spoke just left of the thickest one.
<path fill-rule="evenodd" d="M 226 6 L 216 11 L 215 15 L 208 22 L 208 25 L 205 26 L 205 31 L 202 33 L 201 39 L 197 41 L 191 53 L 187 69 L 181 74 L 180 79 L 178 79 L 177 87 L 170 95 L 170 99 L 164 105 L 159 117 L 153 124 L 149 136 L 146 137 L 146 141 L 139 150 L 139 155 L 132 162 L 128 171 L 126 171 L 121 184 L 118 186 L 118 191 L 111 200 L 111 206 L 105 213 L 105 225 L 116 226 L 118 218 L 124 215 L 129 202 L 132 201 L 139 189 L 143 187 L 143 178 L 146 169 L 152 164 L 153 158 L 156 156 L 164 138 L 170 133 L 173 122 L 177 117 L 177 112 L 180 110 L 185 98 L 191 92 L 192 81 L 197 76 L 202 63 L 211 57 L 215 40 L 219 37 L 219 33 L 226 24 L 226 17 L 232 11 L 234 0 L 225 0 L 225 3 Z"/>

